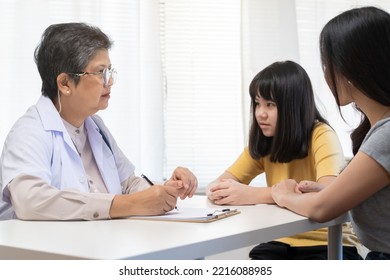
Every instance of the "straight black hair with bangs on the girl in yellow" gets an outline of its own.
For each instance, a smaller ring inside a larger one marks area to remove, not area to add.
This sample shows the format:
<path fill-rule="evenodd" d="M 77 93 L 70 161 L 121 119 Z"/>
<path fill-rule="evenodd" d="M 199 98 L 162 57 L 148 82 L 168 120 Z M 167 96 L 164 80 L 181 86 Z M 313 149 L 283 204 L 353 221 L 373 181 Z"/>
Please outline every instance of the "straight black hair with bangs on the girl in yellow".
<path fill-rule="evenodd" d="M 327 124 L 318 112 L 313 88 L 306 71 L 292 61 L 275 62 L 260 71 L 249 86 L 252 123 L 249 153 L 259 159 L 270 155 L 272 162 L 290 162 L 308 154 L 316 121 Z M 267 137 L 255 116 L 256 97 L 275 102 L 278 119 L 275 135 Z"/>

